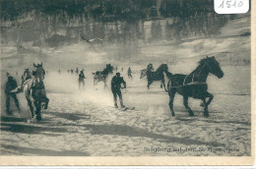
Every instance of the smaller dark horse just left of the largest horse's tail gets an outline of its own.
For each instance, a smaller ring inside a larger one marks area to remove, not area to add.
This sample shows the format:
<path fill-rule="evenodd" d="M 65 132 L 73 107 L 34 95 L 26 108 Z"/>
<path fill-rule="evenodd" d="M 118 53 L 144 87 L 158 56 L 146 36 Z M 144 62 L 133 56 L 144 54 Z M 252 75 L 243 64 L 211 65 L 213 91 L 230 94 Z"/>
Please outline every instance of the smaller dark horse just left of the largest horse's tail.
<path fill-rule="evenodd" d="M 152 69 L 147 69 L 147 80 L 148 80 L 148 88 L 150 89 L 150 85 L 154 82 L 154 81 L 160 81 L 160 87 L 162 87 L 162 85 L 164 86 L 165 91 L 167 91 L 166 87 L 165 87 L 165 83 L 164 83 L 164 75 L 163 73 L 168 72 L 168 66 L 167 64 L 161 64 L 160 67 L 157 69 L 156 72 L 152 72 Z"/>

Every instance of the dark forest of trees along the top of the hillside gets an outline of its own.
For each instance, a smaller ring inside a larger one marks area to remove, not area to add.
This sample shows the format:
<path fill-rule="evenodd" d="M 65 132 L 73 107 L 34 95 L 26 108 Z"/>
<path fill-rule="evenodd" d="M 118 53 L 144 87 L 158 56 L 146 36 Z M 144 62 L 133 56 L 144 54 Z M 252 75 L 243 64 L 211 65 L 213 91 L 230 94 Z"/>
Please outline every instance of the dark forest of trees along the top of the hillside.
<path fill-rule="evenodd" d="M 1 22 L 8 25 L 1 28 L 3 38 L 17 40 L 19 36 L 34 45 L 51 37 L 61 42 L 101 38 L 107 43 L 136 45 L 211 36 L 232 17 L 216 14 L 212 0 L 1 1 Z M 150 34 L 146 34 L 147 22 Z"/>

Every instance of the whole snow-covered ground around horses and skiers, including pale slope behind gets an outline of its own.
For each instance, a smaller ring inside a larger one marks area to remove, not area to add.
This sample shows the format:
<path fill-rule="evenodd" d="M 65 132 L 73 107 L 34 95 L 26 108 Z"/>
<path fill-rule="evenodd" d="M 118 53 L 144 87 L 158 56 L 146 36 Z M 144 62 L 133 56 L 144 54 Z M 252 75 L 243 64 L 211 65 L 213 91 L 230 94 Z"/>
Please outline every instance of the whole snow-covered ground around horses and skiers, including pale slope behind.
<path fill-rule="evenodd" d="M 130 62 L 114 62 L 109 57 L 115 54 L 114 49 L 95 51 L 82 43 L 56 49 L 32 48 L 23 53 L 17 53 L 12 46 L 2 47 L 1 155 L 251 155 L 251 69 L 250 64 L 243 63 L 243 59 L 250 59 L 250 36 L 239 36 L 249 28 L 249 20 L 247 17 L 232 21 L 218 38 L 141 47 L 141 55 Z M 152 84 L 148 90 L 146 78 L 140 80 L 140 70 L 149 63 L 155 70 L 160 63 L 167 63 L 172 74 L 189 74 L 206 55 L 215 55 L 224 71 L 223 79 L 211 75 L 207 80 L 209 92 L 215 96 L 209 106 L 210 117 L 204 117 L 200 100 L 189 98 L 189 106 L 195 113 L 190 117 L 178 94 L 174 99 L 176 116 L 171 117 L 168 94 L 160 88 L 160 83 Z M 172 61 L 175 63 L 171 64 Z M 24 68 L 32 69 L 33 62 L 43 63 L 50 99 L 38 124 L 28 123 L 31 114 L 23 93 L 18 94 L 22 112 L 16 111 L 12 99 L 14 115 L 7 116 L 4 112 L 6 72 L 21 84 Z M 96 65 L 98 62 L 101 65 Z M 102 83 L 94 89 L 92 72 L 102 70 L 106 63 L 118 66 L 119 71 L 124 68 L 121 72 L 127 82 L 124 104 L 135 106 L 135 110 L 113 108 L 109 81 L 114 74 L 108 78 L 107 89 L 103 89 Z M 134 72 L 133 80 L 126 75 L 129 66 Z M 67 69 L 76 67 L 85 68 L 87 79 L 83 90 L 78 88 L 78 75 L 67 73 Z"/>

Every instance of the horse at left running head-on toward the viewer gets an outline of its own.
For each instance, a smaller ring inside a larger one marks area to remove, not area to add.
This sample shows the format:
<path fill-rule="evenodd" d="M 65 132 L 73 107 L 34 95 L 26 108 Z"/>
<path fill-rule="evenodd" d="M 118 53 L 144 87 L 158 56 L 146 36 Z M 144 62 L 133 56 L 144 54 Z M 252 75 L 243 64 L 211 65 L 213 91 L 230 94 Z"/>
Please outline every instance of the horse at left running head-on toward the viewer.
<path fill-rule="evenodd" d="M 43 79 L 45 71 L 42 68 L 41 64 L 33 64 L 34 70 L 32 71 L 32 79 L 28 79 L 24 82 L 23 88 L 24 93 L 32 113 L 32 119 L 37 121 L 41 120 L 41 106 L 43 105 L 44 109 L 47 109 L 49 99 L 46 97 L 46 92 L 43 84 Z M 17 90 L 17 89 L 14 89 Z M 35 107 L 35 116 L 33 112 L 33 106 Z"/>

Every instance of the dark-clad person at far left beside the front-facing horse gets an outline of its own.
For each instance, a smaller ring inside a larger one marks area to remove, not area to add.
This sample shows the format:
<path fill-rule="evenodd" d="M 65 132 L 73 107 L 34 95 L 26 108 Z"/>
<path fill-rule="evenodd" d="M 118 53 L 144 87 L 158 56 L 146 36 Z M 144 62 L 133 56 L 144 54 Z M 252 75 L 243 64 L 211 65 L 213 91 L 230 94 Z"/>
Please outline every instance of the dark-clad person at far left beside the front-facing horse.
<path fill-rule="evenodd" d="M 20 111 L 20 105 L 19 105 L 19 101 L 16 97 L 16 93 L 10 92 L 11 90 L 15 89 L 18 86 L 17 82 L 12 76 L 10 76 L 9 73 L 7 74 L 7 77 L 8 77 L 8 81 L 5 85 L 6 113 L 10 115 L 11 114 L 11 111 L 10 111 L 10 96 L 13 97 L 15 105 L 16 105 L 16 107 L 19 111 Z"/>

